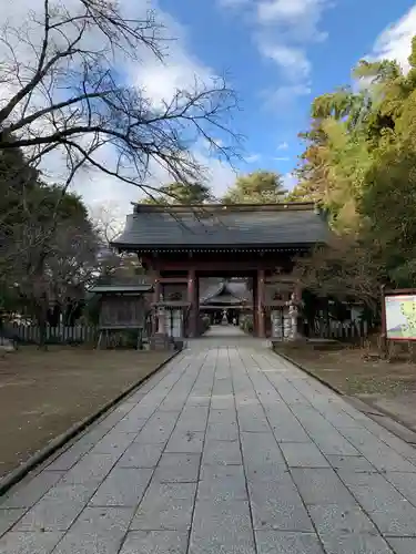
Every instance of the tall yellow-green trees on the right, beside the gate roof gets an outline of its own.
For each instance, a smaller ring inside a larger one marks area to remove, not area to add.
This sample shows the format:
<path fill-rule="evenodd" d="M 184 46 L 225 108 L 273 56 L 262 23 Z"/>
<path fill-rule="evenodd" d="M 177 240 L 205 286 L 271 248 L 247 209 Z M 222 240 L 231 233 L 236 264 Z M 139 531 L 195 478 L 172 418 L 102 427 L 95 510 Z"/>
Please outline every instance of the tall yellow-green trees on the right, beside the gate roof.
<path fill-rule="evenodd" d="M 362 61 L 362 92 L 323 94 L 291 199 L 314 199 L 337 235 L 298 264 L 304 285 L 377 304 L 379 285 L 416 284 L 416 38 L 405 73 L 389 60 Z"/>

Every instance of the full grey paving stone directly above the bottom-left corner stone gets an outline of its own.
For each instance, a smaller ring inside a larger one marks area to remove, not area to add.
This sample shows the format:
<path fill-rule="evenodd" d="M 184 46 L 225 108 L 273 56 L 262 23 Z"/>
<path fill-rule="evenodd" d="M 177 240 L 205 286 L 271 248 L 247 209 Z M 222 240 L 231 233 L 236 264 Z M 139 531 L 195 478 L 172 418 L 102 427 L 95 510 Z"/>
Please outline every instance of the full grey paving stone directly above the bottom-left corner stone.
<path fill-rule="evenodd" d="M 16 531 L 65 531 L 85 507 L 91 490 L 82 484 L 58 484 L 16 525 Z"/>

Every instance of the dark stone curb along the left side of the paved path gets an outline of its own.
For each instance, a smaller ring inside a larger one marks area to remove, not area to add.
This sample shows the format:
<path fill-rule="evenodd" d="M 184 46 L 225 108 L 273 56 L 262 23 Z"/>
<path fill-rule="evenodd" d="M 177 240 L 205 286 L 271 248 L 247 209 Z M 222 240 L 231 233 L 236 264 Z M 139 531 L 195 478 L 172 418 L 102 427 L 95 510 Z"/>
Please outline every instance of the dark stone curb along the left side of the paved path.
<path fill-rule="evenodd" d="M 23 462 L 19 468 L 16 468 L 10 473 L 7 473 L 3 479 L 0 480 L 0 499 L 3 494 L 6 494 L 13 485 L 19 483 L 28 473 L 38 468 L 41 463 L 43 463 L 48 458 L 58 452 L 62 447 L 64 447 L 69 441 L 79 435 L 82 431 L 84 431 L 88 427 L 94 423 L 98 419 L 104 416 L 108 411 L 114 408 L 118 403 L 129 397 L 135 389 L 139 389 L 145 381 L 148 381 L 151 377 L 153 377 L 158 371 L 164 368 L 170 361 L 173 360 L 182 349 L 174 350 L 172 355 L 166 358 L 164 361 L 159 363 L 150 373 L 145 377 L 139 379 L 133 384 L 124 389 L 120 394 L 115 398 L 106 402 L 99 410 L 93 412 L 91 416 L 78 421 L 73 425 L 71 425 L 67 431 L 59 434 L 54 439 L 52 439 L 44 448 L 38 450 L 33 455 L 31 455 L 26 462 Z"/>

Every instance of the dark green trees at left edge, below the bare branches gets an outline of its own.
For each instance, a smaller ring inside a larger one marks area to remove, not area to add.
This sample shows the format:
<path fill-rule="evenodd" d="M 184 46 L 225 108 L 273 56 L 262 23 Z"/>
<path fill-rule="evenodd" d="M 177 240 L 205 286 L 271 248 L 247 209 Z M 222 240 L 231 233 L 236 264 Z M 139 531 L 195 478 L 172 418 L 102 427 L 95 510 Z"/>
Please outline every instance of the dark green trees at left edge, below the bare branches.
<path fill-rule="evenodd" d="M 83 202 L 50 185 L 18 148 L 0 152 L 0 304 L 44 330 L 51 306 L 81 300 L 100 269 L 100 238 Z"/>

